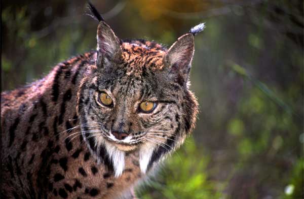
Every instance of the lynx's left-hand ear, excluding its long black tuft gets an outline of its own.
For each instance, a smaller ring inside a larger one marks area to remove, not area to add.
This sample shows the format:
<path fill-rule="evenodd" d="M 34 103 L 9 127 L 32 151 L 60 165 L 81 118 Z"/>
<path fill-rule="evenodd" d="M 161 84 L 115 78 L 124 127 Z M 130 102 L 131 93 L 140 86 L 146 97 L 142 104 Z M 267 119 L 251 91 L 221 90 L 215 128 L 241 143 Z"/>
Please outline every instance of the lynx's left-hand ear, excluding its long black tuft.
<path fill-rule="evenodd" d="M 104 68 L 111 62 L 119 62 L 122 56 L 120 40 L 104 21 L 97 27 L 97 67 Z"/>

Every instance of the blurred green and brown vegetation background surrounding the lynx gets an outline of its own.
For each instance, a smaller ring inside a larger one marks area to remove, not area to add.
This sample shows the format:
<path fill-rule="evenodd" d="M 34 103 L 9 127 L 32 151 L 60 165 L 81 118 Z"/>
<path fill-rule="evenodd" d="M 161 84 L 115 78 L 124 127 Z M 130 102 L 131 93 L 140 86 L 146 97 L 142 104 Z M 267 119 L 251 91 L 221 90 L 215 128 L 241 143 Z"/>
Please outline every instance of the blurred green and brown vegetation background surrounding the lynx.
<path fill-rule="evenodd" d="M 192 137 L 139 198 L 304 198 L 303 1 L 92 0 L 121 39 L 168 47 L 192 26 Z M 1 88 L 96 48 L 85 1 L 2 1 Z"/>

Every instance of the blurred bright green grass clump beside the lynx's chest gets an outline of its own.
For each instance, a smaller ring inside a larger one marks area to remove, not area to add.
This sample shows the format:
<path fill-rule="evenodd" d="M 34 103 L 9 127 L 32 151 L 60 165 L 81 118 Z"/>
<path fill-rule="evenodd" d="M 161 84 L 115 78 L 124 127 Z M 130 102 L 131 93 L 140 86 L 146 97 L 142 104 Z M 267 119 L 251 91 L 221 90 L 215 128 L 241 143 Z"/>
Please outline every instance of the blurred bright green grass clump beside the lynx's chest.
<path fill-rule="evenodd" d="M 188 138 L 181 149 L 166 161 L 158 177 L 143 184 L 139 198 L 220 198 L 216 183 L 208 179 L 209 158 L 198 149 L 194 139 Z M 149 188 L 147 188 L 149 186 Z M 153 192 L 150 192 L 150 189 Z"/>

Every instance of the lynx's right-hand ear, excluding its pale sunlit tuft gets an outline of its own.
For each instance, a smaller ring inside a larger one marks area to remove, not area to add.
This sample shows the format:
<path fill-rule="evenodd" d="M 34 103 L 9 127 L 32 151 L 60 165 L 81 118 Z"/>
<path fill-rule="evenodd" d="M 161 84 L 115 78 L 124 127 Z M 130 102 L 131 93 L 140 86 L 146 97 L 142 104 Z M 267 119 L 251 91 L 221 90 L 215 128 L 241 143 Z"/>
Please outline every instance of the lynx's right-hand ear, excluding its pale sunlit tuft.
<path fill-rule="evenodd" d="M 178 38 L 164 57 L 166 68 L 180 85 L 185 85 L 187 82 L 193 55 L 194 35 L 188 33 Z"/>

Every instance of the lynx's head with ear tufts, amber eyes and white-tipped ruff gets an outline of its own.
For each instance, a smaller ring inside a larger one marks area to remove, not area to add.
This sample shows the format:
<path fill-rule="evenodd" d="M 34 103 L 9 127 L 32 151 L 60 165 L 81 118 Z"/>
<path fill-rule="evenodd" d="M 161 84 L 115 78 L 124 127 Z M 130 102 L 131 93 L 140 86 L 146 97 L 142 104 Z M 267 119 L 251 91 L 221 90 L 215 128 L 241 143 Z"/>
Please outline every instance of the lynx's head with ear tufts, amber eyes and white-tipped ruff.
<path fill-rule="evenodd" d="M 94 14 L 99 19 L 95 64 L 78 92 L 82 134 L 97 161 L 116 177 L 127 151 L 139 152 L 145 173 L 179 147 L 195 125 L 198 103 L 189 91 L 189 71 L 194 35 L 203 24 L 167 50 L 155 42 L 121 41 Z"/>

